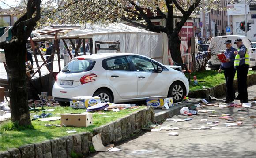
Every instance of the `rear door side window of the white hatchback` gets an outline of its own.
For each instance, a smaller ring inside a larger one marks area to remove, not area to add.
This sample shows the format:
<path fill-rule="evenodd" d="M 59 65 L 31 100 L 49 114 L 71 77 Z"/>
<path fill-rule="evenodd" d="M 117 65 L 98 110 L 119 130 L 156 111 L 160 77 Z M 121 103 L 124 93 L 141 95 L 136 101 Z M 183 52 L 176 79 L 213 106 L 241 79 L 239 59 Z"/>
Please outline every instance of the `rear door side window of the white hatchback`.
<path fill-rule="evenodd" d="M 130 71 L 128 61 L 125 56 L 107 59 L 106 66 L 107 70 Z"/>

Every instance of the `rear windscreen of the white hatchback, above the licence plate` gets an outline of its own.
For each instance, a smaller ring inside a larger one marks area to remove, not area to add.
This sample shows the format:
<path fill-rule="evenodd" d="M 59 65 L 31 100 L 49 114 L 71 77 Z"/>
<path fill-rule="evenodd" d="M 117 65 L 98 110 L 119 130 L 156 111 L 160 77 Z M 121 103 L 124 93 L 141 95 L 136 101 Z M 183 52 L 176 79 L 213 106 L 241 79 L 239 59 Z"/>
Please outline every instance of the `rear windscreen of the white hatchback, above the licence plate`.
<path fill-rule="evenodd" d="M 85 72 L 90 71 L 93 66 L 95 65 L 95 61 L 92 60 L 72 60 L 68 63 L 62 70 L 62 72 L 68 72 L 68 73 L 79 73 L 79 72 Z"/>

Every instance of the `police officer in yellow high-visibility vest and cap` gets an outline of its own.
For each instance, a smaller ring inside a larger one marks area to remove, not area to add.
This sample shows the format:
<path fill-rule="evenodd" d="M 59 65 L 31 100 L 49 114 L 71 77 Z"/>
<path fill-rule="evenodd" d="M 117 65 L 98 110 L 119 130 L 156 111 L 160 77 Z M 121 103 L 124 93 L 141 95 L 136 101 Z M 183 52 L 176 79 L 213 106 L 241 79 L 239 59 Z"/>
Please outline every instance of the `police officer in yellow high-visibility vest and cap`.
<path fill-rule="evenodd" d="M 248 93 L 247 93 L 247 74 L 250 67 L 249 51 L 243 44 L 241 38 L 236 39 L 235 44 L 237 44 L 237 51 L 234 51 L 235 62 L 234 66 L 237 69 L 237 88 L 238 96 L 237 100 L 241 103 L 248 103 Z"/>

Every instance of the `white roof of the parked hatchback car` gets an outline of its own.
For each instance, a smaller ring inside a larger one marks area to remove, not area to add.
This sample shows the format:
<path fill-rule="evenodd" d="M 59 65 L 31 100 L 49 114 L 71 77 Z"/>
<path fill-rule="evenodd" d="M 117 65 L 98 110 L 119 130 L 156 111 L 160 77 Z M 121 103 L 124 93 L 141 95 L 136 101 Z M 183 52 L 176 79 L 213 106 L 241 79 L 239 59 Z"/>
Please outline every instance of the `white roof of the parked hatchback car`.
<path fill-rule="evenodd" d="M 134 53 L 124 53 L 124 52 L 116 52 L 116 53 L 97 53 L 97 54 L 92 54 L 92 55 L 80 55 L 77 56 L 73 59 L 77 59 L 77 58 L 85 58 L 85 59 L 106 59 L 109 57 L 115 57 L 115 56 L 124 56 L 124 55 L 139 55 L 139 54 L 134 54 Z M 143 55 L 139 55 L 139 56 L 143 56 Z"/>

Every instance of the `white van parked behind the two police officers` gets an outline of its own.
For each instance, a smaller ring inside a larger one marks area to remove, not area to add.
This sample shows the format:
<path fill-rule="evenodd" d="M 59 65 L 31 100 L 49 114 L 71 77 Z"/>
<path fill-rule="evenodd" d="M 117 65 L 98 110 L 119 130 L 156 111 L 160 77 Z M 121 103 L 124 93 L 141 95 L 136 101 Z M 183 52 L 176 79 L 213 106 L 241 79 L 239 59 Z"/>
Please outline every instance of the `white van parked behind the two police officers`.
<path fill-rule="evenodd" d="M 252 70 L 256 70 L 256 51 L 253 50 L 252 43 L 246 36 L 241 35 L 228 35 L 228 36 L 217 36 L 212 37 L 211 42 L 209 44 L 209 49 L 211 50 L 211 59 L 208 62 L 208 66 L 211 69 L 218 69 L 221 65 L 220 60 L 217 57 L 217 54 L 222 53 L 226 50 L 225 40 L 232 40 L 233 48 L 237 48 L 237 45 L 234 44 L 237 38 L 241 38 L 243 40 L 243 44 L 246 48 L 249 49 L 250 55 L 250 67 Z"/>

